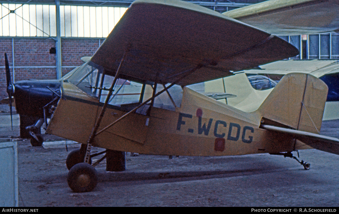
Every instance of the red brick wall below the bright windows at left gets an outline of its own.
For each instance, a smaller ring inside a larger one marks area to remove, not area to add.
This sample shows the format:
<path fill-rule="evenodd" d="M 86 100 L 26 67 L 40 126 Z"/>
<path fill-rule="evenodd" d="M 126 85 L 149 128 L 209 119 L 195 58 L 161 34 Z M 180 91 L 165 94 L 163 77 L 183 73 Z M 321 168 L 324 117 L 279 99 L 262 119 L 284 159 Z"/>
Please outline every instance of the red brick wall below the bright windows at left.
<path fill-rule="evenodd" d="M 81 57 L 92 56 L 104 39 L 61 39 L 62 76 L 81 65 Z M 8 97 L 4 53 L 9 66 L 13 65 L 12 38 L 0 38 L 0 99 Z M 49 49 L 55 47 L 52 38 L 13 38 L 15 81 L 26 79 L 56 79 L 56 54 Z M 22 68 L 25 66 L 25 68 Z M 27 68 L 27 66 L 32 66 Z M 39 67 L 34 67 L 39 66 Z M 51 67 L 52 66 L 52 67 Z M 71 66 L 71 67 L 69 67 Z M 11 75 L 13 75 L 11 67 Z M 12 76 L 13 80 L 13 76 Z"/>

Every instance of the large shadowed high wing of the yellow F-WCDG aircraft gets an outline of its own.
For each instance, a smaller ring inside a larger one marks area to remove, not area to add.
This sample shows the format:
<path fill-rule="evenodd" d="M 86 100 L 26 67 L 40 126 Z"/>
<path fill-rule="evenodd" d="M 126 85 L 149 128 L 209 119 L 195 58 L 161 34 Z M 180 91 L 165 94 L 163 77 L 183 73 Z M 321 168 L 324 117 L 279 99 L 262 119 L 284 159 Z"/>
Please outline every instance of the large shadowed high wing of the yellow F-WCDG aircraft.
<path fill-rule="evenodd" d="M 135 1 L 91 61 L 139 82 L 190 85 L 298 54 L 257 28 L 183 1 Z M 194 72 L 184 78 L 192 70 Z"/>

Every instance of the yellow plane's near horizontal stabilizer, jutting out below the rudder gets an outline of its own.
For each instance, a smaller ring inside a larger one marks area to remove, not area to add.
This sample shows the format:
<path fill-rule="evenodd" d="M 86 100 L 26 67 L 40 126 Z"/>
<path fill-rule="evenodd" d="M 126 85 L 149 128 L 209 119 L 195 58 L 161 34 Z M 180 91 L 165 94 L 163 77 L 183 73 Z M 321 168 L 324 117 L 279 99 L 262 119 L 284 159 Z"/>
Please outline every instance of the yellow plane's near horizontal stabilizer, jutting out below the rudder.
<path fill-rule="evenodd" d="M 335 137 L 328 137 L 324 135 L 318 135 L 310 132 L 303 132 L 293 129 L 286 129 L 281 127 L 276 127 L 273 125 L 261 125 L 261 128 L 266 130 L 281 132 L 286 134 L 293 135 L 296 139 L 302 141 L 303 143 L 324 151 L 333 154 L 339 155 L 339 139 Z"/>

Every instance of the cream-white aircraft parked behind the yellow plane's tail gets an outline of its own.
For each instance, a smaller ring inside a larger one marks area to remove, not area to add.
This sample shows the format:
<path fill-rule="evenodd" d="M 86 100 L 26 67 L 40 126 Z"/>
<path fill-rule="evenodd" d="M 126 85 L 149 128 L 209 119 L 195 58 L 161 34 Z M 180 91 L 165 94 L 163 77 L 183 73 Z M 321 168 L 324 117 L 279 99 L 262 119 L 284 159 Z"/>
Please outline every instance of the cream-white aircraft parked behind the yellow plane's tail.
<path fill-rule="evenodd" d="M 338 60 L 282 60 L 260 66 L 261 69 L 245 70 L 234 76 L 205 82 L 205 92 L 225 92 L 236 95 L 227 98 L 227 104 L 245 112 L 259 108 L 272 89 L 256 90 L 247 79 L 246 74 L 285 75 L 288 73 L 308 73 L 316 77 L 339 73 Z M 339 92 L 338 92 L 339 93 Z M 221 100 L 223 101 L 223 100 Z M 224 102 L 224 101 L 223 101 Z M 323 120 L 339 119 L 339 102 L 326 102 Z"/>

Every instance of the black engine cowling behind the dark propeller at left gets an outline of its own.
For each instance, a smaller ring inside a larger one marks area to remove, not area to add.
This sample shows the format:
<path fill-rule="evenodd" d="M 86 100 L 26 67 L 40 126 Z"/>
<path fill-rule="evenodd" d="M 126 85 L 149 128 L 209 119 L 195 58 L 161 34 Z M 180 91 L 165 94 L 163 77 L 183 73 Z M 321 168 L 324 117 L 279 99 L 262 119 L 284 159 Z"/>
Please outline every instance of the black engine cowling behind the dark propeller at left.
<path fill-rule="evenodd" d="M 61 94 L 59 80 L 23 80 L 14 86 L 15 106 L 20 115 L 43 118 L 43 107 Z"/>

